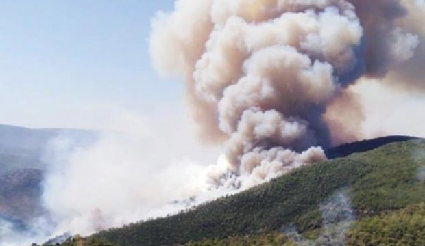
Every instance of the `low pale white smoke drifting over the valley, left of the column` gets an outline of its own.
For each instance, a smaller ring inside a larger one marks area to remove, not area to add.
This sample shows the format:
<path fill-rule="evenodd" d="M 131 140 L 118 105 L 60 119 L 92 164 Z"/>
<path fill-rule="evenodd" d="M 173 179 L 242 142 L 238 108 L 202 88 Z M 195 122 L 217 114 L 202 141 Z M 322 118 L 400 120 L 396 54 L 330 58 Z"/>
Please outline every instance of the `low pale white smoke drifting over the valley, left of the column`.
<path fill-rule="evenodd" d="M 178 133 L 160 123 L 171 120 Z M 168 117 L 156 121 L 138 126 L 144 131 L 136 135 L 101 134 L 90 146 L 76 146 L 66 136 L 52 139 L 45 156 L 50 167 L 42 200 L 54 224 L 53 235 L 88 235 L 173 214 L 228 192 L 206 193 L 206 165 L 200 163 L 213 161 L 217 150 L 184 139 L 191 135 L 187 122 Z M 127 122 L 127 130 L 136 128 L 132 123 Z M 162 154 L 165 150 L 169 154 Z"/>

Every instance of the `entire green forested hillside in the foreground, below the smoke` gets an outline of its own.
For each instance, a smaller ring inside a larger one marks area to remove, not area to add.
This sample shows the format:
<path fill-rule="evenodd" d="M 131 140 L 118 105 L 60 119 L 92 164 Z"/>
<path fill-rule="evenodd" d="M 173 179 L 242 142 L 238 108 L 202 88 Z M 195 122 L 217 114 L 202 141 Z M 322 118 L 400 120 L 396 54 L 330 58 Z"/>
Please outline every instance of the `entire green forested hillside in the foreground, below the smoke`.
<path fill-rule="evenodd" d="M 339 154 L 380 147 L 90 238 L 123 246 L 424 245 L 425 141 L 381 146 L 387 140 L 400 138 L 346 145 Z"/>

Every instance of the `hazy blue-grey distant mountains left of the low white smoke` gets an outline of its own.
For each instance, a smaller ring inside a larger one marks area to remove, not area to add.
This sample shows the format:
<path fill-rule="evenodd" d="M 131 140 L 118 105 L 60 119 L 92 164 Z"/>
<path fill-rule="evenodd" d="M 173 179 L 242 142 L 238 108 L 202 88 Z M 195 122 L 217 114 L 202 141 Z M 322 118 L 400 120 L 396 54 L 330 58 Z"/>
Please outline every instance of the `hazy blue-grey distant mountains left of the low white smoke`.
<path fill-rule="evenodd" d="M 40 196 L 47 168 L 44 155 L 52 139 L 64 137 L 75 146 L 93 143 L 98 131 L 31 129 L 0 124 L 0 221 L 25 230 L 45 213 Z"/>

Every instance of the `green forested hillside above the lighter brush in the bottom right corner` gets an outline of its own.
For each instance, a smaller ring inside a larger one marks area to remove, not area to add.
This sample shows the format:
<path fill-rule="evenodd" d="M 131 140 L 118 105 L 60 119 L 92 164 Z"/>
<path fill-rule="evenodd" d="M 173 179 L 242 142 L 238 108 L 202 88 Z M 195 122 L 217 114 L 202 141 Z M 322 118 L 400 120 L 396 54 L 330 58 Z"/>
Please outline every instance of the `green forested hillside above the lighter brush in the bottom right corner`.
<path fill-rule="evenodd" d="M 208 245 L 211 240 L 230 242 L 229 238 L 246 235 L 273 238 L 288 228 L 314 238 L 330 223 L 321 210 L 323 204 L 341 191 L 359 220 L 425 202 L 424 170 L 425 141 L 391 143 L 304 167 L 178 215 L 99 232 L 92 238 L 126 246 L 196 241 Z"/>

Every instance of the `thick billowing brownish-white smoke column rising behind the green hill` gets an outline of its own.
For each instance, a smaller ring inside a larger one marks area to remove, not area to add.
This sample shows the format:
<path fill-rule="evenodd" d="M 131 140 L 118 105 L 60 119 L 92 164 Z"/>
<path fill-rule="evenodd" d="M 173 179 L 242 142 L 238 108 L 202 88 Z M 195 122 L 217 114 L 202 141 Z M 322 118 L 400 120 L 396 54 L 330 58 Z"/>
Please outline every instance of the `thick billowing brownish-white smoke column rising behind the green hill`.
<path fill-rule="evenodd" d="M 174 12 L 158 14 L 154 65 L 186 80 L 202 137 L 226 141 L 213 182 L 249 187 L 326 159 L 314 146 L 356 138 L 332 111 L 352 108 L 361 120 L 347 88 L 413 57 L 420 37 L 399 21 L 408 15 L 403 4 L 178 0 Z"/>

